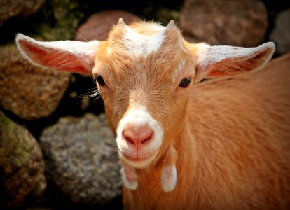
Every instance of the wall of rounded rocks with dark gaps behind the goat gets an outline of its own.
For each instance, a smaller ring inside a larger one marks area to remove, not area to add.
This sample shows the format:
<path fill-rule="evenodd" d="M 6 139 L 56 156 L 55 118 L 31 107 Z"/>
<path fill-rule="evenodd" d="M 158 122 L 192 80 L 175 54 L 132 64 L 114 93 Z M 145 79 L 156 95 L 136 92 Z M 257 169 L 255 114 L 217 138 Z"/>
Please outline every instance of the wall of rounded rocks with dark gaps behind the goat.
<path fill-rule="evenodd" d="M 290 52 L 290 1 L 0 0 L 0 209 L 123 209 L 113 134 L 92 78 L 32 66 L 15 46 L 106 40 L 130 23 L 174 20 L 186 40 Z"/>

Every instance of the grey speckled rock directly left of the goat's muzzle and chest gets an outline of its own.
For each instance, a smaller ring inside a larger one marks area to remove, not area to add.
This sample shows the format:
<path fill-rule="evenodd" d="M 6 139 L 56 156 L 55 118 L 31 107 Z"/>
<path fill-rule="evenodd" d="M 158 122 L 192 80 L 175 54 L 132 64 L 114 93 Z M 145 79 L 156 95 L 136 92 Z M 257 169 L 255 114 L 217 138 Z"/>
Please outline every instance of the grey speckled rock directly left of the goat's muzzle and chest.
<path fill-rule="evenodd" d="M 48 179 L 72 202 L 104 204 L 120 197 L 116 143 L 104 114 L 61 118 L 43 131 L 40 144 Z"/>

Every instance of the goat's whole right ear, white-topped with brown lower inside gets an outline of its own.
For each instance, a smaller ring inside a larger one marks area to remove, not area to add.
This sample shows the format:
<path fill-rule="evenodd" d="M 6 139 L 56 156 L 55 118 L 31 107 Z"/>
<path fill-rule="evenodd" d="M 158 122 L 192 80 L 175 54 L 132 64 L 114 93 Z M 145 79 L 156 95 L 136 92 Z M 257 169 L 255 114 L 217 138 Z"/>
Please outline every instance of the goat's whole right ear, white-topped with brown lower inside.
<path fill-rule="evenodd" d="M 268 62 L 274 51 L 275 45 L 272 42 L 256 48 L 196 44 L 195 80 L 212 76 L 233 76 L 258 69 Z"/>

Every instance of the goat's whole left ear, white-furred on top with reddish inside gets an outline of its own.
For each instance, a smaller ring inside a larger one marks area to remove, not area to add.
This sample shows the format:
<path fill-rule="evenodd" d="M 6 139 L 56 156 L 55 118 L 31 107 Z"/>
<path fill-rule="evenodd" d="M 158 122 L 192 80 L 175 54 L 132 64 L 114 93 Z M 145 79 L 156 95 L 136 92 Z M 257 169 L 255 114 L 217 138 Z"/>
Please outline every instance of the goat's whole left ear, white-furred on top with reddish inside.
<path fill-rule="evenodd" d="M 22 56 L 38 66 L 59 71 L 92 73 L 99 41 L 36 41 L 18 34 L 16 44 Z"/>

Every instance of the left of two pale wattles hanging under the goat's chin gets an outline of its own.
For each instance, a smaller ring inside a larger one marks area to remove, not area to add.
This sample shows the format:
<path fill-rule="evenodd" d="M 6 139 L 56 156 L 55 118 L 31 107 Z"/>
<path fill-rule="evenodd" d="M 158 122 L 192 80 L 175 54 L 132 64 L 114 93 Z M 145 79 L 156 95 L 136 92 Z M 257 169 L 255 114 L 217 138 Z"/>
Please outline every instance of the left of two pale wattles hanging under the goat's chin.
<path fill-rule="evenodd" d="M 138 187 L 137 175 L 135 169 L 122 165 L 120 170 L 124 185 L 130 190 L 136 190 Z"/>

